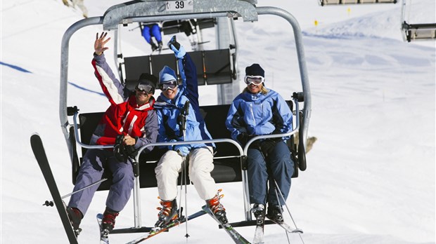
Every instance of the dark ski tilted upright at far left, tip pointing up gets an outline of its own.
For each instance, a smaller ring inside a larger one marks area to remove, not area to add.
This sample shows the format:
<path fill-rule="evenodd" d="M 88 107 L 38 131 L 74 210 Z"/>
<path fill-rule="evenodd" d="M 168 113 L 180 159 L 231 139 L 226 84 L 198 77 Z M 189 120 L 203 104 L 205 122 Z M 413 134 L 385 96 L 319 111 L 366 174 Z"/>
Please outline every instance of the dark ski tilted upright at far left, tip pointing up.
<path fill-rule="evenodd" d="M 49 187 L 51 197 L 53 198 L 54 205 L 56 205 L 58 210 L 60 220 L 62 220 L 63 228 L 68 236 L 68 240 L 71 244 L 78 244 L 76 233 L 74 229 L 72 229 L 67 210 L 65 209 L 65 203 L 63 203 L 63 200 L 59 194 L 59 189 L 56 185 L 53 173 L 51 172 L 49 160 L 47 159 L 46 151 L 44 150 L 44 145 L 42 144 L 41 137 L 39 137 L 38 134 L 34 134 L 30 137 L 30 146 L 32 147 L 33 154 L 37 159 L 39 168 L 41 168 L 42 175 L 44 175 L 46 184 Z M 49 201 L 46 201 L 44 205 L 53 206 L 53 204 L 50 204 Z"/>

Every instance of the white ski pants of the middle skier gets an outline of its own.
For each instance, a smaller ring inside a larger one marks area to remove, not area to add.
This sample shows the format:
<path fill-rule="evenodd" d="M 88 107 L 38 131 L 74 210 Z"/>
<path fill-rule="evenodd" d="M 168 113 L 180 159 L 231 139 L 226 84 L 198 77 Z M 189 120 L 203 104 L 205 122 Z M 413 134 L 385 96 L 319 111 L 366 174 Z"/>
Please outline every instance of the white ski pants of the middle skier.
<path fill-rule="evenodd" d="M 188 155 L 188 174 L 198 196 L 203 200 L 213 198 L 217 194 L 215 181 L 210 175 L 214 169 L 212 147 L 201 147 L 191 150 Z M 183 157 L 177 151 L 167 151 L 155 168 L 158 180 L 158 191 L 162 201 L 171 201 L 177 197 L 177 177 L 181 172 Z"/>

